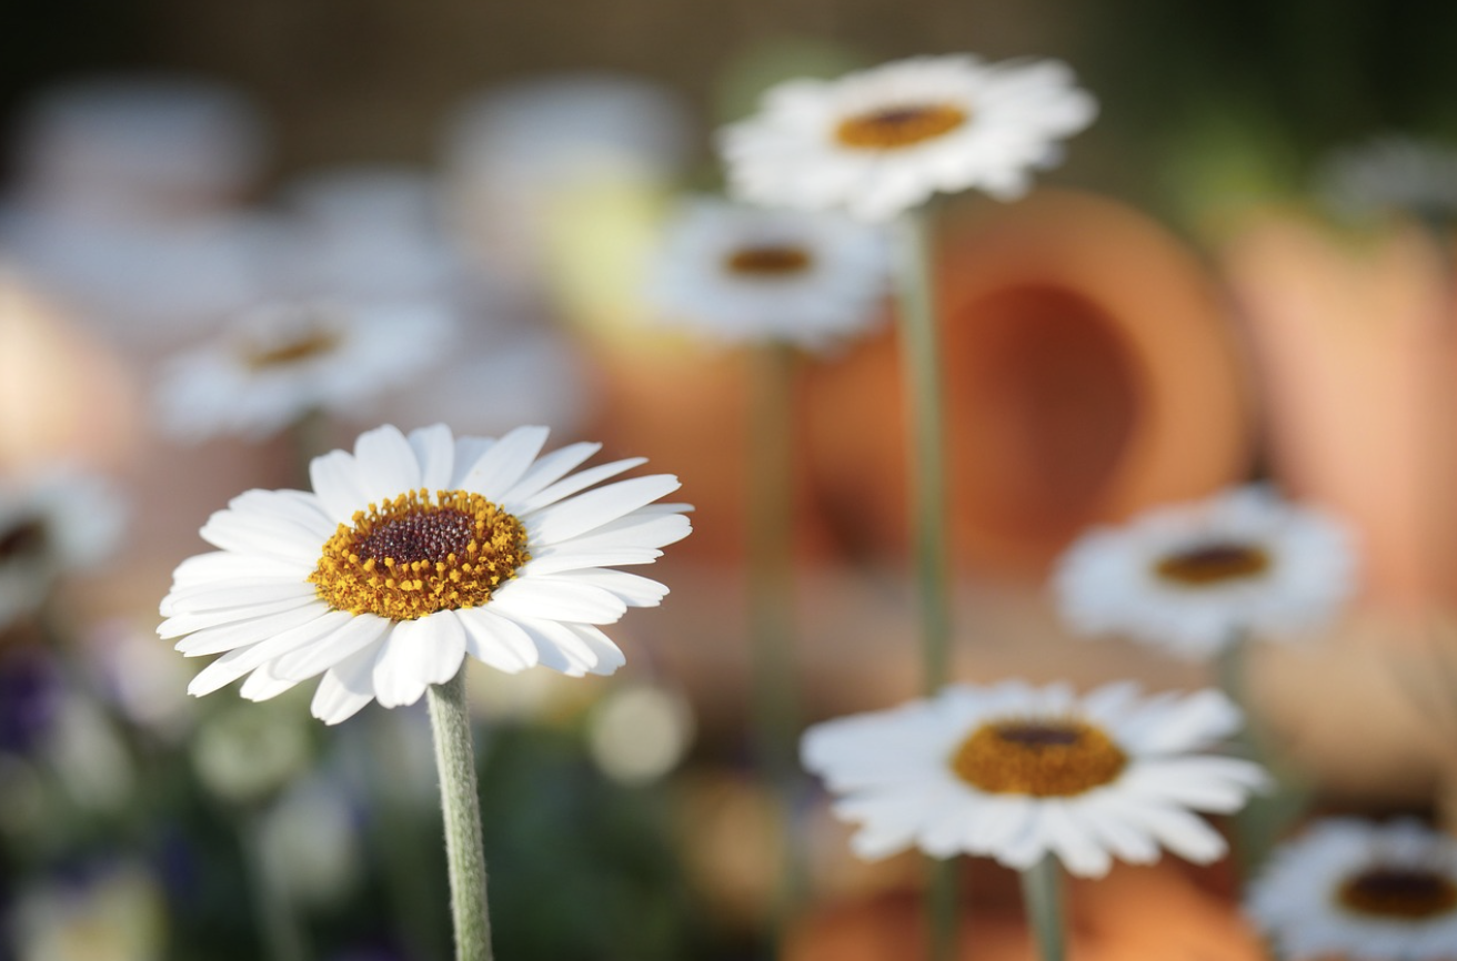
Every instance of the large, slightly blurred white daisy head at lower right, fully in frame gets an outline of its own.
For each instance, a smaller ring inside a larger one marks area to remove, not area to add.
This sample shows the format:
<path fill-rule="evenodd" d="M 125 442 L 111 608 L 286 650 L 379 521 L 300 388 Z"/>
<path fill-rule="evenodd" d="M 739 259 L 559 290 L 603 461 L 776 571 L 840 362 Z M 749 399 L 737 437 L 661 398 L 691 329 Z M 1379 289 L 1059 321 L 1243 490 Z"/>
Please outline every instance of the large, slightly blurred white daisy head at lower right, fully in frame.
<path fill-rule="evenodd" d="M 1224 855 L 1190 811 L 1236 811 L 1266 776 L 1193 751 L 1238 725 L 1215 690 L 1142 699 L 1118 683 L 1078 697 L 1067 684 L 1002 681 L 817 724 L 800 753 L 841 795 L 835 814 L 861 826 L 861 858 L 914 845 L 1026 871 L 1052 853 L 1101 877 L 1115 858 L 1158 861 L 1160 845 L 1199 863 Z"/>

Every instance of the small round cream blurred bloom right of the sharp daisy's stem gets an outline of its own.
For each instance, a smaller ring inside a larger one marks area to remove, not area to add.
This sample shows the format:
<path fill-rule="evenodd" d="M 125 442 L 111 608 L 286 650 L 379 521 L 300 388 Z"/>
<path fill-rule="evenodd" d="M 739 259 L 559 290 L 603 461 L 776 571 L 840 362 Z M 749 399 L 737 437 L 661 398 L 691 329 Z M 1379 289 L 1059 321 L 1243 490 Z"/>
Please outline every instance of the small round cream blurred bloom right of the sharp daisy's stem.
<path fill-rule="evenodd" d="M 656 684 L 609 693 L 592 712 L 592 757 L 624 783 L 647 783 L 673 770 L 694 740 L 688 700 Z"/>

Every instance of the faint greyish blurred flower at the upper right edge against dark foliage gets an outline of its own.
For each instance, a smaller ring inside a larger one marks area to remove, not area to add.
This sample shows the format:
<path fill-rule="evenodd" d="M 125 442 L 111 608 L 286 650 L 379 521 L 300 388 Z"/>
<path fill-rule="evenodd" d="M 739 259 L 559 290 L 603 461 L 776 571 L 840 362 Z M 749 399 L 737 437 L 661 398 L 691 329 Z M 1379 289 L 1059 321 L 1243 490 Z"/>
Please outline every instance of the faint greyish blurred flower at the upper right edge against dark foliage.
<path fill-rule="evenodd" d="M 1336 151 L 1317 173 L 1326 202 L 1349 217 L 1406 213 L 1457 218 L 1457 149 L 1412 137 L 1378 137 Z"/>

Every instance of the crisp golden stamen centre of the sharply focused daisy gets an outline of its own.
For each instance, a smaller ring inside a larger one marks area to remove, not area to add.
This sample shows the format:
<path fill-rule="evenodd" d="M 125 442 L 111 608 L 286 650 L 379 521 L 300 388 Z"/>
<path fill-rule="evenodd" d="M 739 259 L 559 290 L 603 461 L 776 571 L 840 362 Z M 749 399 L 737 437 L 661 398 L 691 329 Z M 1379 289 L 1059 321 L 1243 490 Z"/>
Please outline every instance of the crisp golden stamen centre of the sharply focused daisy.
<path fill-rule="evenodd" d="M 420 489 L 339 524 L 309 581 L 335 610 L 415 620 L 485 604 L 529 559 L 514 515 L 479 494 Z"/>

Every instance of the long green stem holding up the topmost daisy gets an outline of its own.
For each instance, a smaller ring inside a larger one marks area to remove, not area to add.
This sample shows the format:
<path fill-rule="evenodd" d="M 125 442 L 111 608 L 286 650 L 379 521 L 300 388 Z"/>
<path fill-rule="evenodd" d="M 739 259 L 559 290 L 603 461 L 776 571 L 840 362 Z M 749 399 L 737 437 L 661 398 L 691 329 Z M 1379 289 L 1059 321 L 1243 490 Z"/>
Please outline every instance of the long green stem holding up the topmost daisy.
<path fill-rule="evenodd" d="M 908 482 L 912 492 L 911 536 L 915 545 L 915 590 L 921 617 L 922 686 L 927 695 L 934 695 L 951 677 L 941 351 L 927 227 L 915 213 L 902 215 L 895 227 L 900 361 L 911 438 Z M 931 961 L 950 961 L 957 945 L 956 862 L 932 862 L 930 874 L 930 957 Z"/>

